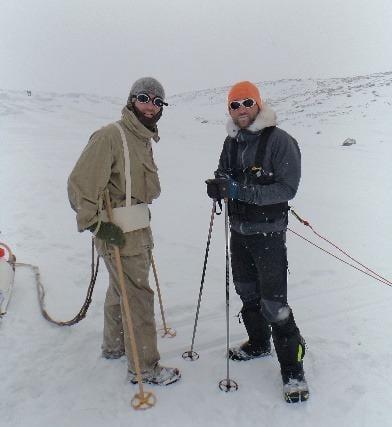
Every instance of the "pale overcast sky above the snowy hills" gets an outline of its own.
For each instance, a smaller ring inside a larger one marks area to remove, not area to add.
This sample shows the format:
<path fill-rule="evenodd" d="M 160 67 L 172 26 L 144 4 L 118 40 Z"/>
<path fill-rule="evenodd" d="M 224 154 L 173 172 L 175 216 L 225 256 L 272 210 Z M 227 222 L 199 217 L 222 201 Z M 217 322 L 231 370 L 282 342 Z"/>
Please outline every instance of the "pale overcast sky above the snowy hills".
<path fill-rule="evenodd" d="M 168 95 L 392 70 L 391 0 L 0 0 L 0 89 Z"/>

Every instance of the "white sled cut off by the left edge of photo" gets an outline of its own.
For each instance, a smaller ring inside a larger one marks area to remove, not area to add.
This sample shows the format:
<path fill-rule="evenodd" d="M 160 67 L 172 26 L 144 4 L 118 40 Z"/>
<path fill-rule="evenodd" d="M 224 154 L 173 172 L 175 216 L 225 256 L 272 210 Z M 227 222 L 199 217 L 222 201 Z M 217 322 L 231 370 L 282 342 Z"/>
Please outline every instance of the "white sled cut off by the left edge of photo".
<path fill-rule="evenodd" d="M 7 313 L 15 276 L 15 256 L 0 242 L 0 317 Z"/>

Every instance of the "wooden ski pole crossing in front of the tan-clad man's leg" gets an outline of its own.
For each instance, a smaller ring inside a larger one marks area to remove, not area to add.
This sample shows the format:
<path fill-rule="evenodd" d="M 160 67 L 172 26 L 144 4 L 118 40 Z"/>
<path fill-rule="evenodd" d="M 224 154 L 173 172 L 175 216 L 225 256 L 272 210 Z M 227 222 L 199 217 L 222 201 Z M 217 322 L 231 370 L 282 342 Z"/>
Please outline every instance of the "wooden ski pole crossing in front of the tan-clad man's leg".
<path fill-rule="evenodd" d="M 108 213 L 109 221 L 113 222 L 112 204 L 110 202 L 110 196 L 109 196 L 108 190 L 105 191 L 105 202 L 106 202 L 106 210 Z M 118 248 L 118 246 L 114 246 L 114 260 L 116 264 L 118 281 L 120 285 L 121 299 L 124 304 L 125 319 L 128 326 L 129 340 L 131 342 L 131 350 L 132 350 L 133 362 L 135 364 L 136 379 L 139 384 L 139 393 L 136 393 L 135 396 L 132 398 L 131 405 L 134 409 L 148 409 L 155 405 L 156 397 L 154 396 L 153 393 L 145 392 L 143 390 L 139 355 L 137 352 L 135 332 L 133 329 L 131 310 L 128 303 L 127 290 L 125 288 L 124 271 L 121 264 L 120 249 Z"/>

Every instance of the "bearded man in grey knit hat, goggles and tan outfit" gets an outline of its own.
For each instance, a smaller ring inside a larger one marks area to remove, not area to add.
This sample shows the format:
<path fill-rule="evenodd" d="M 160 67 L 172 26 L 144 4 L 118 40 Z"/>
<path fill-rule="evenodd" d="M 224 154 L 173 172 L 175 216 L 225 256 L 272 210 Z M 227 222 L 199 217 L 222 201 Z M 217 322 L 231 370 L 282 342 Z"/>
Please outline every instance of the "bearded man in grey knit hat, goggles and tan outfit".
<path fill-rule="evenodd" d="M 109 272 L 102 355 L 117 359 L 126 354 L 130 381 L 136 383 L 114 263 L 113 245 L 116 245 L 120 248 L 142 379 L 159 385 L 171 384 L 181 375 L 178 369 L 158 363 L 154 293 L 148 283 L 153 247 L 151 229 L 147 224 L 128 231 L 127 225 L 120 227 L 119 223 L 108 222 L 103 198 L 108 190 L 115 211 L 128 201 L 133 207 L 143 206 L 159 196 L 161 190 L 151 139 L 159 140 L 156 123 L 163 106 L 167 106 L 164 99 L 164 89 L 157 80 L 152 77 L 137 80 L 122 110 L 121 120 L 92 134 L 68 179 L 68 196 L 76 211 L 78 230 L 90 230 L 95 234 L 98 253 Z"/>

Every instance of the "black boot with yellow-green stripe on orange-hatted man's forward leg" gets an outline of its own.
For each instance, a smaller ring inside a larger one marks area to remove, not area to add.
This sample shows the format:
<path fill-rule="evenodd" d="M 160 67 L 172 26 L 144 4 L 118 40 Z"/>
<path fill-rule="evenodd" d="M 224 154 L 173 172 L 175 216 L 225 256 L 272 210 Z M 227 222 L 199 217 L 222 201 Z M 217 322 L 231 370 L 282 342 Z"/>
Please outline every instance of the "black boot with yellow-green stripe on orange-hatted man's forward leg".
<path fill-rule="evenodd" d="M 280 363 L 283 397 L 288 403 L 309 398 L 302 360 L 305 355 L 305 340 L 302 338 L 292 313 L 282 325 L 273 325 L 273 340 Z"/>

